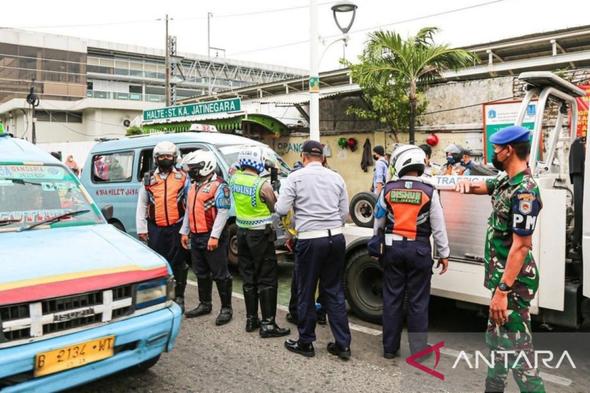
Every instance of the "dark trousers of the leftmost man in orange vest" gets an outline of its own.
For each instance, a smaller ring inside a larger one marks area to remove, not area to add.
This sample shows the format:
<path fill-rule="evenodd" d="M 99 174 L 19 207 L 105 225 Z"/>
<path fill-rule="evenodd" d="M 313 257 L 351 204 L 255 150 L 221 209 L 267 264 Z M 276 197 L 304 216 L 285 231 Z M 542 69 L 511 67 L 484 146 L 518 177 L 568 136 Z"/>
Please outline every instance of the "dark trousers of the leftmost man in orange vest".
<path fill-rule="evenodd" d="M 148 220 L 148 246 L 163 256 L 172 269 L 186 266 L 186 250 L 181 244 L 182 220 L 170 226 L 157 226 Z"/>

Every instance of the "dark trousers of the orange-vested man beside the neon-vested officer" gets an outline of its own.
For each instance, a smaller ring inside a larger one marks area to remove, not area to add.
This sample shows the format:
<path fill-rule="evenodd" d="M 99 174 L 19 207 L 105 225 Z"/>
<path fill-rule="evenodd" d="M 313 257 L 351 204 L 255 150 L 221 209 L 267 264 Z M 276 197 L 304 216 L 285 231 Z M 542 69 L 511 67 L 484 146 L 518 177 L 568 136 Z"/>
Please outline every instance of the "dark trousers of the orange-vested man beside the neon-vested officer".
<path fill-rule="evenodd" d="M 200 279 L 222 282 L 231 277 L 227 268 L 227 236 L 221 233 L 219 245 L 213 251 L 207 250 L 211 232 L 191 234 L 192 270 Z"/>

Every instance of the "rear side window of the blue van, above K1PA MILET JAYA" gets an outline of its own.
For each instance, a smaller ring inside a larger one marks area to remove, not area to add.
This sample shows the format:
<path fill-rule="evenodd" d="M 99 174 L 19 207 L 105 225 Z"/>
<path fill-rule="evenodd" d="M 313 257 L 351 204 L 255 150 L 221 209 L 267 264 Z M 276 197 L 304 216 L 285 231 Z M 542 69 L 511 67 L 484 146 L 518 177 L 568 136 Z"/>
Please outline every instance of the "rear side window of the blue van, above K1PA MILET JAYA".
<path fill-rule="evenodd" d="M 129 182 L 133 177 L 133 151 L 103 154 L 92 157 L 93 183 Z"/>

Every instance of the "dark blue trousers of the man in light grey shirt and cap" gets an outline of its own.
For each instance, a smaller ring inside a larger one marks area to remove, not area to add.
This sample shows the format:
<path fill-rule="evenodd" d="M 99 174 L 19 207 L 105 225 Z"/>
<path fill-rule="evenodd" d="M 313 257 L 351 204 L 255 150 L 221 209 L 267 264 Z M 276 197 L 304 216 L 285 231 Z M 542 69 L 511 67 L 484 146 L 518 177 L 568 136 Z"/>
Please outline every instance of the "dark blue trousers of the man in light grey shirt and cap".
<path fill-rule="evenodd" d="M 297 330 L 300 342 L 316 341 L 315 295 L 319 279 L 320 293 L 336 344 L 343 348 L 350 346 L 350 328 L 342 288 L 345 251 L 346 242 L 342 234 L 297 240 L 295 276 L 299 292 Z"/>

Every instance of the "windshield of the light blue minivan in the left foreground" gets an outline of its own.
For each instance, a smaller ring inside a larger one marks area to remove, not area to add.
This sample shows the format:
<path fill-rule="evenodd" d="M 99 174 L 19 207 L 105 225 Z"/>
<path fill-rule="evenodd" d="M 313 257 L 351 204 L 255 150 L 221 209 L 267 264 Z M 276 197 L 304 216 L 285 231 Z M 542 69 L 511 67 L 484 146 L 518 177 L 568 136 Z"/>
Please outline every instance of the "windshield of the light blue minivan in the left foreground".
<path fill-rule="evenodd" d="M 103 222 L 74 175 L 61 166 L 0 164 L 0 231 L 20 229 L 71 212 L 50 227 Z M 38 226 L 41 229 L 47 226 Z"/>

